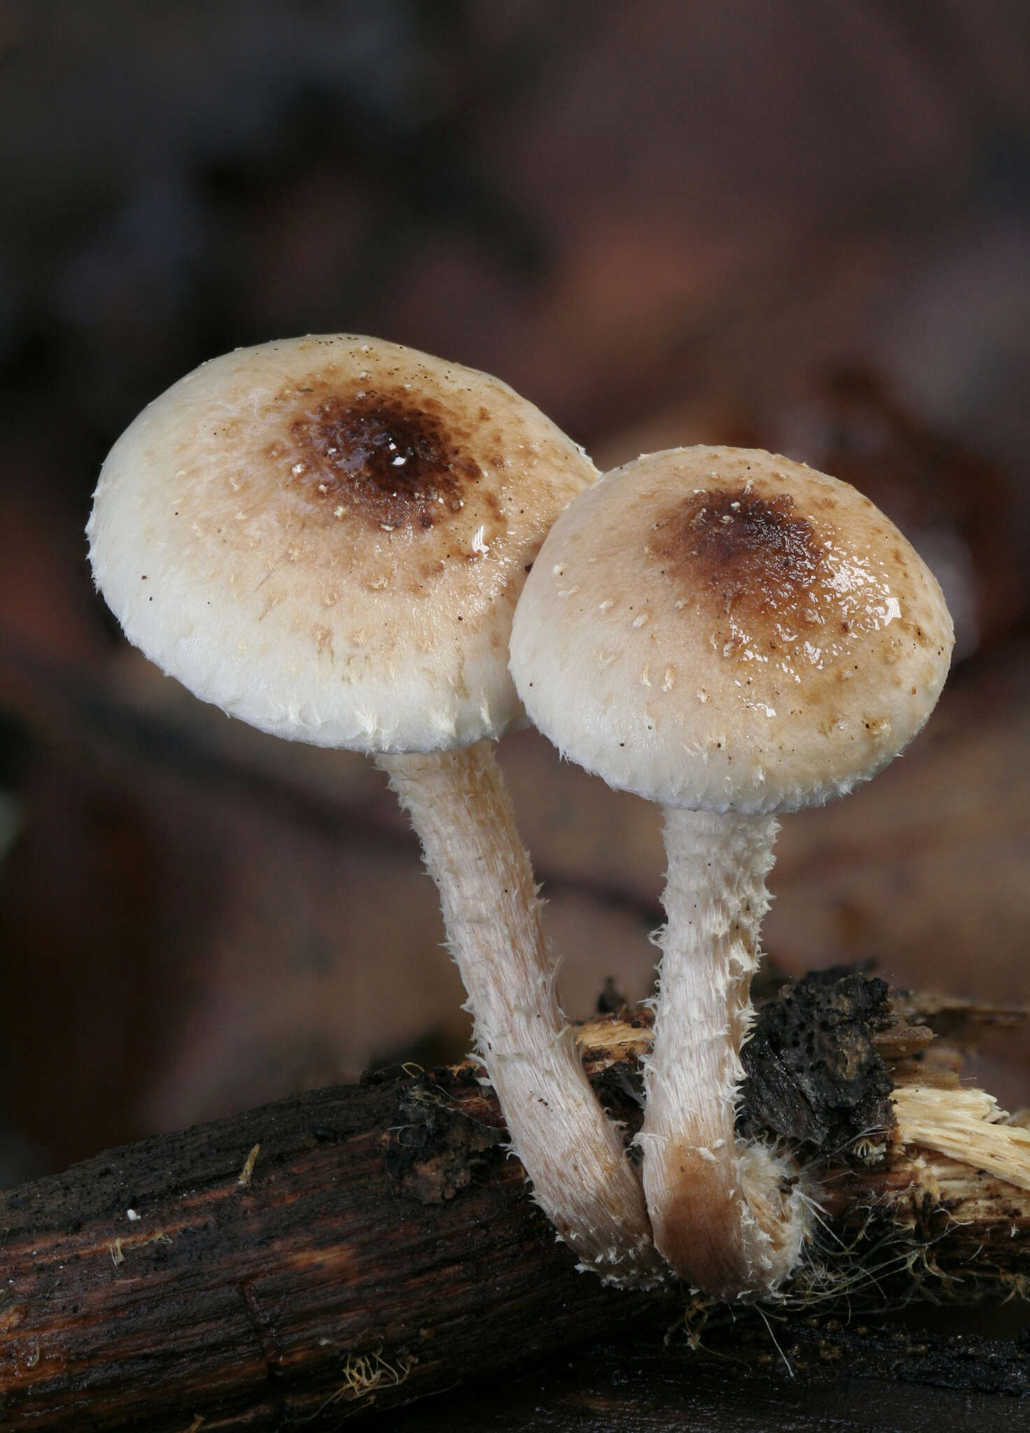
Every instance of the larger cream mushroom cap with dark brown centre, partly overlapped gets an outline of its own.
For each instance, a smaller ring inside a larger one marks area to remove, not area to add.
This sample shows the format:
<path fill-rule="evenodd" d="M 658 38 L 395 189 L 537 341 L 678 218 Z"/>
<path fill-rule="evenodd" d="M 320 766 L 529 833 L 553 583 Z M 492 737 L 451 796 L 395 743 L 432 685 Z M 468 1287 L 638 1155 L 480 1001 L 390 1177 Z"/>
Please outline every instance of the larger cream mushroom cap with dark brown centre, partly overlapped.
<path fill-rule="evenodd" d="M 438 751 L 523 719 L 511 613 L 583 451 L 487 374 L 334 334 L 241 348 L 110 451 L 97 586 L 165 672 L 254 727 Z"/>

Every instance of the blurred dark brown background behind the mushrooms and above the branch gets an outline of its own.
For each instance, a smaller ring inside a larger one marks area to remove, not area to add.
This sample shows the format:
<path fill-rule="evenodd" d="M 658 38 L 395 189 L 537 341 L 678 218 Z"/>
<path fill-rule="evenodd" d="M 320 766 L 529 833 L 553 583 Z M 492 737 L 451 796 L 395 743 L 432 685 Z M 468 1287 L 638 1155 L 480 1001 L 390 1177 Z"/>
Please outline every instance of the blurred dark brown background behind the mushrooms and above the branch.
<path fill-rule="evenodd" d="M 381 778 L 202 708 L 92 590 L 117 433 L 284 334 L 487 368 L 602 467 L 746 441 L 881 503 L 956 666 L 784 823 L 765 944 L 1027 999 L 1029 221 L 1024 0 L 0 3 L 0 1185 L 464 1049 Z M 501 759 L 570 1013 L 645 997 L 656 811 Z M 1029 1060 L 980 1073 L 1026 1103 Z"/>

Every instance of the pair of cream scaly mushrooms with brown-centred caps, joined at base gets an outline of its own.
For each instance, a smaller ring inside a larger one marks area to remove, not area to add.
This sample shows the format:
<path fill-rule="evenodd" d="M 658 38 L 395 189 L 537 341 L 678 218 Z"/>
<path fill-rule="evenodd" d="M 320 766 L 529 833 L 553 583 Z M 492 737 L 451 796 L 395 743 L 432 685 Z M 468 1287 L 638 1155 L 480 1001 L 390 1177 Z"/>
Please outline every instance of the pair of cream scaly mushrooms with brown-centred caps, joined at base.
<path fill-rule="evenodd" d="M 582 1265 L 775 1291 L 805 1195 L 733 1135 L 775 814 L 871 777 L 937 701 L 951 623 L 897 529 L 766 453 L 678 449 L 599 479 L 496 378 L 332 335 L 228 354 L 152 403 L 105 463 L 89 539 L 168 674 L 385 771 L 511 1145 Z M 665 808 L 642 1178 L 562 1013 L 494 762 L 524 714 Z"/>

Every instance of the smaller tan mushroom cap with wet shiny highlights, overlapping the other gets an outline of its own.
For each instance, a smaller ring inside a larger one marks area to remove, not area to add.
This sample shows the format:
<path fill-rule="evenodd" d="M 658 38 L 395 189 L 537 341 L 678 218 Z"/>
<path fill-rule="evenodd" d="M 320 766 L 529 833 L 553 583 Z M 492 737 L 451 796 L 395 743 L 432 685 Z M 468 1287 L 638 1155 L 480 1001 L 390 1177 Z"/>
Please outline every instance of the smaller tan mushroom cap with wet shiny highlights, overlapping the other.
<path fill-rule="evenodd" d="M 951 645 L 935 579 L 854 487 L 692 447 L 607 473 L 557 519 L 511 672 L 536 725 L 610 785 L 758 815 L 887 765 Z"/>

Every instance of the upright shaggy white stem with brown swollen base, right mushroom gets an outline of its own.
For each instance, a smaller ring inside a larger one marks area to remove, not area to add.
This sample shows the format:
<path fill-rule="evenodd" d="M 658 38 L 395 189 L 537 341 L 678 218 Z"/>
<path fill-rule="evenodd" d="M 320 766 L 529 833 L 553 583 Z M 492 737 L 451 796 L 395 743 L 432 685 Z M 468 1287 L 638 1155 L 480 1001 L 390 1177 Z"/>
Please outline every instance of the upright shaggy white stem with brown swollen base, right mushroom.
<path fill-rule="evenodd" d="M 665 808 L 668 924 L 639 1136 L 643 1187 L 659 1251 L 721 1298 L 772 1293 L 805 1231 L 794 1166 L 733 1135 L 776 831 L 772 817 Z"/>

